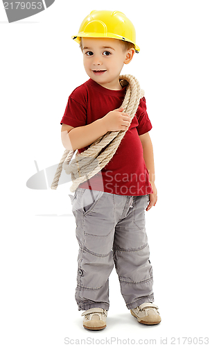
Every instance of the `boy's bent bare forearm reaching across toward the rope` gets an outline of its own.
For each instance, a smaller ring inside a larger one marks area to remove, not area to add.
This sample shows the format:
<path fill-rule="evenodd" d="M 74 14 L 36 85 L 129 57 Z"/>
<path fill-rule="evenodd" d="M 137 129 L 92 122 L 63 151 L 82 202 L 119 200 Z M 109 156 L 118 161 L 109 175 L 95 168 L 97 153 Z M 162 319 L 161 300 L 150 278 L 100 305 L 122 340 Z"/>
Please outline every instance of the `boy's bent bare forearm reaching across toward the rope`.
<path fill-rule="evenodd" d="M 87 126 L 78 126 L 76 128 L 62 124 L 61 139 L 65 149 L 76 151 L 76 149 L 89 146 L 105 133 L 107 133 L 107 130 L 103 118 L 100 118 Z"/>

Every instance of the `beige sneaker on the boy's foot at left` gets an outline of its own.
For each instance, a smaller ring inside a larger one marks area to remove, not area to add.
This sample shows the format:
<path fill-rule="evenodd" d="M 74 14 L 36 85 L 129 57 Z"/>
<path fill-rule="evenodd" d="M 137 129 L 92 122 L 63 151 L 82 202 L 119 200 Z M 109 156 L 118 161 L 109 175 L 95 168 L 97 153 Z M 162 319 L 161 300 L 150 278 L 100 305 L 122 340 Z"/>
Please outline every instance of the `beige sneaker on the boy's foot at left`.
<path fill-rule="evenodd" d="M 82 313 L 84 316 L 83 327 L 89 330 L 104 329 L 107 319 L 107 311 L 103 308 L 93 307 Z"/>

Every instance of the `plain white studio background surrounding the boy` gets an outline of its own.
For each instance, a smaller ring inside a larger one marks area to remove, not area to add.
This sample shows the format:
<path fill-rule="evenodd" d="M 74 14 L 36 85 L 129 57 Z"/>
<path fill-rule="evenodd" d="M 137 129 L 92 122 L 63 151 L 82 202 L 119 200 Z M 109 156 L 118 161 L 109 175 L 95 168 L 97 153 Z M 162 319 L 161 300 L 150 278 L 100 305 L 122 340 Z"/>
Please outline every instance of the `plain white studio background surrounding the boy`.
<path fill-rule="evenodd" d="M 169 346 L 172 337 L 177 345 L 179 337 L 180 345 L 182 337 L 209 337 L 208 6 L 55 0 L 8 24 L 0 3 L 2 346 L 58 347 L 65 337 L 69 344 L 115 337 L 122 344 L 156 339 L 157 345 L 168 337 Z M 139 79 L 153 126 L 158 202 L 146 212 L 146 226 L 162 318 L 153 327 L 139 324 L 125 307 L 115 269 L 107 328 L 82 327 L 74 299 L 78 243 L 71 183 L 56 191 L 26 187 L 37 172 L 34 160 L 41 171 L 64 152 L 60 121 L 69 95 L 88 79 L 71 35 L 91 10 L 125 12 L 141 49 L 122 73 Z"/>

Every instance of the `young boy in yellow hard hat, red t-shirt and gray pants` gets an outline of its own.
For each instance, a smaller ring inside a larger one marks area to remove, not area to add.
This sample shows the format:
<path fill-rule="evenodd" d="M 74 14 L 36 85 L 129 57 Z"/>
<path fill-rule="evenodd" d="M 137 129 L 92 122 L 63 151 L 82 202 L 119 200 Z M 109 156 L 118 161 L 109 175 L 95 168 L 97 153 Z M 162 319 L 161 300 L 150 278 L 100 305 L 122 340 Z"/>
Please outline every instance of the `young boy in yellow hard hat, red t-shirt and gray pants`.
<path fill-rule="evenodd" d="M 136 115 L 123 112 L 126 92 L 119 81 L 124 64 L 139 51 L 135 29 L 118 11 L 92 11 L 77 36 L 89 80 L 69 96 L 62 117 L 62 143 L 81 153 L 108 131 L 126 130 L 112 160 L 98 174 L 81 183 L 73 196 L 76 237 L 80 246 L 76 302 L 85 310 L 83 326 L 106 327 L 109 276 L 114 265 L 121 294 L 139 323 L 161 321 L 152 293 L 152 266 L 145 230 L 145 210 L 157 202 L 152 128 L 146 99 Z M 91 202 L 89 197 L 93 197 Z"/>

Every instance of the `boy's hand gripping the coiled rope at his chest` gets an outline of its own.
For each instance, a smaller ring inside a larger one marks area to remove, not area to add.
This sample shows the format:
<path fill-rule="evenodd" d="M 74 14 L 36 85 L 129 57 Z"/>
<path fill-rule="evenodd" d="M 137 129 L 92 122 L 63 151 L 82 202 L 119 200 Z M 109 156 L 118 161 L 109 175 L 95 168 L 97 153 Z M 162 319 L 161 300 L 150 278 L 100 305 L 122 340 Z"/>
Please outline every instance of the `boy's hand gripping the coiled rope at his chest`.
<path fill-rule="evenodd" d="M 107 131 L 127 130 L 130 126 L 130 115 L 123 112 L 123 108 L 110 111 L 103 117 L 104 126 Z"/>

